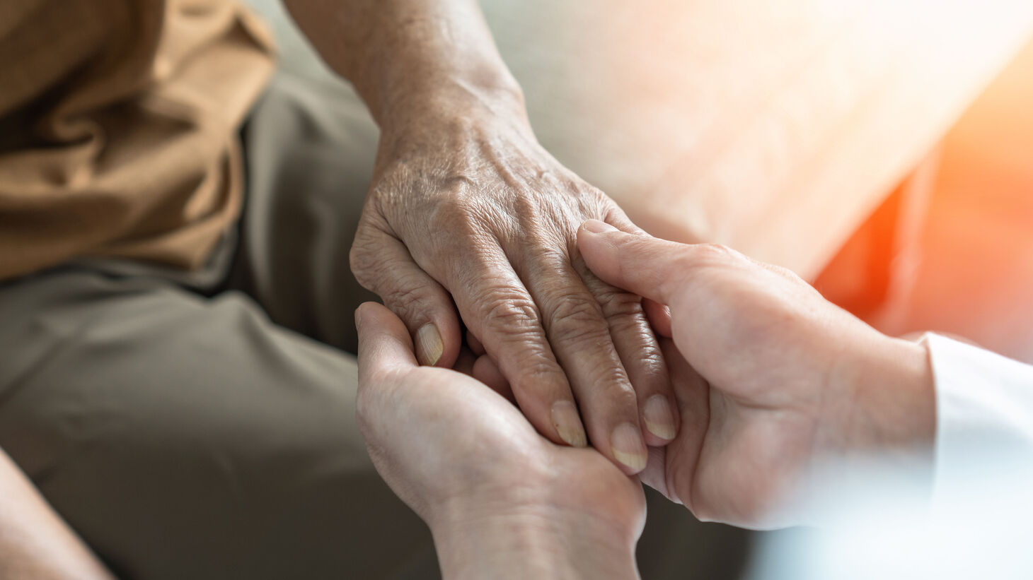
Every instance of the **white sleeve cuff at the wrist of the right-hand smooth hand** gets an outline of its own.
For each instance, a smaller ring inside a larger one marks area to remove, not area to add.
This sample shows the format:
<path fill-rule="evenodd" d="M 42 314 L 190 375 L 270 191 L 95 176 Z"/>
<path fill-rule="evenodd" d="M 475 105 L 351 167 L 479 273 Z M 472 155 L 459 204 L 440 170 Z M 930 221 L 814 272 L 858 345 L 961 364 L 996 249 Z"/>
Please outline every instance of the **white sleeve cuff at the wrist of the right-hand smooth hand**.
<path fill-rule="evenodd" d="M 1033 366 L 938 334 L 922 340 L 936 382 L 934 506 L 965 496 L 988 468 L 1030 473 Z"/>

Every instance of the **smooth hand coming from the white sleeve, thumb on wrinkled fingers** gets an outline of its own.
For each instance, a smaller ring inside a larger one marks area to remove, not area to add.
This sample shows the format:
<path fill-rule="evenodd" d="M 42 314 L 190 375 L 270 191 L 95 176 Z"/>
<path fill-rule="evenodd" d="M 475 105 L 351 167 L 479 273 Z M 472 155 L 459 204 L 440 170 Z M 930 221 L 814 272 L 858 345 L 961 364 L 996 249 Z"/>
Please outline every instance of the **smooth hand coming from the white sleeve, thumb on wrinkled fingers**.
<path fill-rule="evenodd" d="M 651 452 L 641 477 L 697 517 L 802 523 L 786 502 L 807 493 L 817 461 L 931 456 L 935 398 L 921 345 L 885 336 L 792 272 L 726 248 L 597 221 L 578 241 L 600 279 L 655 300 L 651 318 L 674 339 L 664 354 L 682 430 Z"/>

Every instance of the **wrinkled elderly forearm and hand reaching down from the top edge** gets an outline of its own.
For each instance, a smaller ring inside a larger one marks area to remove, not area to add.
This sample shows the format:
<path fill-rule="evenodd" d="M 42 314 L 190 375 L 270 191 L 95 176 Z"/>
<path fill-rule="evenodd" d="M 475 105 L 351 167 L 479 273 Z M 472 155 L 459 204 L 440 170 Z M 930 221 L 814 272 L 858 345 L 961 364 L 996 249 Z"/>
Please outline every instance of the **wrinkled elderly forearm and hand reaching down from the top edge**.
<path fill-rule="evenodd" d="M 419 361 L 456 361 L 458 311 L 539 432 L 571 446 L 587 432 L 641 470 L 644 439 L 663 445 L 679 425 L 665 365 L 639 299 L 593 276 L 575 244 L 588 218 L 637 228 L 537 142 L 476 1 L 285 3 L 380 126 L 351 267 Z"/>

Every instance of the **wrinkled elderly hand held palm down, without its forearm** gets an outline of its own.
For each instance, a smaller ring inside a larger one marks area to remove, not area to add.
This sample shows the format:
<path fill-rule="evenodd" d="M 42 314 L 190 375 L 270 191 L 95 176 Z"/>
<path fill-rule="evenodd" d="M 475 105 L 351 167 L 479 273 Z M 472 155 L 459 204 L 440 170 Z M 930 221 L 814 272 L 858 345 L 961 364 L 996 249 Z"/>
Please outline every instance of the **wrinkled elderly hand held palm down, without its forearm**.
<path fill-rule="evenodd" d="M 599 281 L 575 244 L 589 218 L 637 228 L 538 144 L 520 102 L 453 94 L 427 109 L 383 129 L 352 270 L 422 364 L 456 361 L 458 310 L 539 432 L 584 446 L 580 410 L 596 449 L 637 473 L 644 438 L 677 433 L 669 379 L 640 299 Z"/>

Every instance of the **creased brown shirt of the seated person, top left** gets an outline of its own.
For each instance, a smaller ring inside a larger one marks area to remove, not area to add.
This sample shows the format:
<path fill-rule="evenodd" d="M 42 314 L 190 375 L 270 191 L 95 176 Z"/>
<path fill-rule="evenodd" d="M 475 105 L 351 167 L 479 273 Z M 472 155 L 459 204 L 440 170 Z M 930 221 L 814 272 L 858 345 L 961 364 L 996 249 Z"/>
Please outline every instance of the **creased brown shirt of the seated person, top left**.
<path fill-rule="evenodd" d="M 273 70 L 234 0 L 0 2 L 0 279 L 77 256 L 200 265 L 241 206 Z"/>

